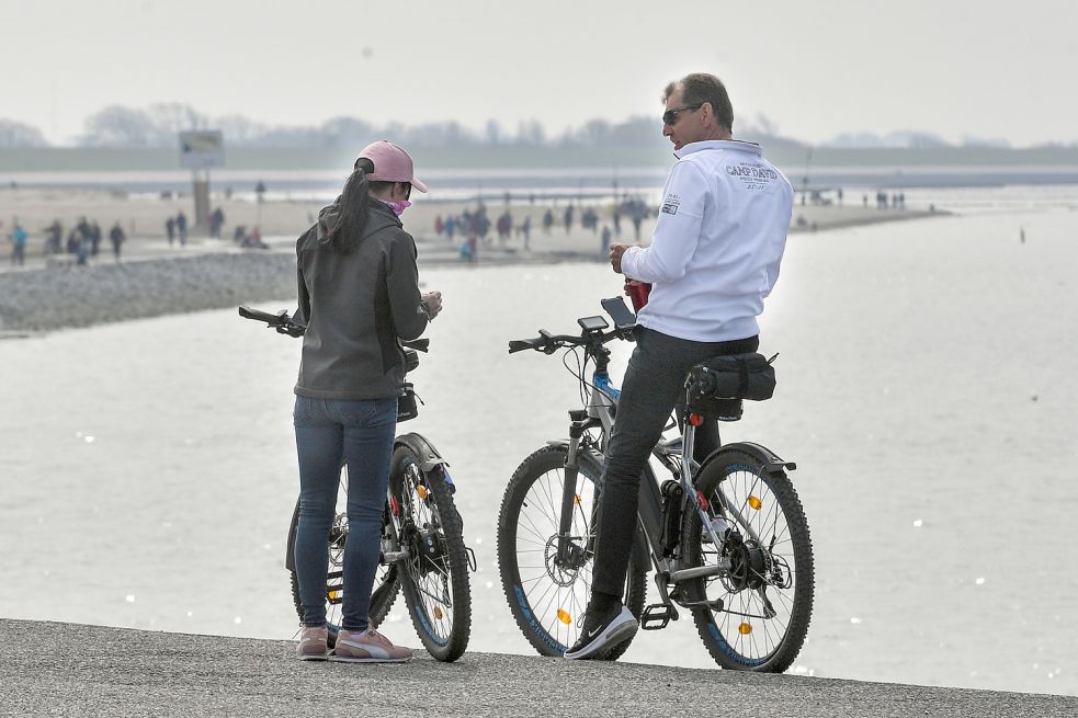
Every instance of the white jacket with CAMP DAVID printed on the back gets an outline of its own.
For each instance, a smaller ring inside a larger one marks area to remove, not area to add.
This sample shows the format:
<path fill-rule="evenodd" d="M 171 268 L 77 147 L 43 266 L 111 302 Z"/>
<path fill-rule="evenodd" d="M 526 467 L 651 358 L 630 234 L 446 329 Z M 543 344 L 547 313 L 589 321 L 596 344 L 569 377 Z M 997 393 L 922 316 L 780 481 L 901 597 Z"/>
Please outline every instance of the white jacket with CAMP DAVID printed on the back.
<path fill-rule="evenodd" d="M 793 187 L 759 145 L 707 140 L 674 155 L 651 246 L 622 255 L 626 277 L 653 285 L 637 323 L 697 342 L 753 337 L 779 278 Z"/>

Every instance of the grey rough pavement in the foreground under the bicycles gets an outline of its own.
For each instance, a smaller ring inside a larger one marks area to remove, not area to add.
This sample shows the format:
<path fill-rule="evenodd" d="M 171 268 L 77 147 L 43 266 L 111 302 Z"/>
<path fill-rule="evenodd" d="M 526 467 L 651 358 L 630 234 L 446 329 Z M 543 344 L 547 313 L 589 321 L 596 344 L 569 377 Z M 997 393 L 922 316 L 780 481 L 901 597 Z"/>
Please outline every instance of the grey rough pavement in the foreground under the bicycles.
<path fill-rule="evenodd" d="M 0 619 L 0 716 L 1076 716 L 1078 697 L 467 653 L 303 663 L 290 641 Z"/>

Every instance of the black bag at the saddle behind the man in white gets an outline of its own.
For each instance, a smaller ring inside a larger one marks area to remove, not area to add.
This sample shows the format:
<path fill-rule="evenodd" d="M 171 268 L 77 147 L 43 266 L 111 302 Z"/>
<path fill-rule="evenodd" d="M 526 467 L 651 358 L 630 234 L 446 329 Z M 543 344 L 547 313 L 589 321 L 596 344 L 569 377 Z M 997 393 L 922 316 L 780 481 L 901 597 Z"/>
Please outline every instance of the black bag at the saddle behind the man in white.
<path fill-rule="evenodd" d="M 741 400 L 763 401 L 775 392 L 775 354 L 758 352 L 714 356 L 689 369 L 685 400 L 689 411 L 705 419 L 737 421 Z"/>

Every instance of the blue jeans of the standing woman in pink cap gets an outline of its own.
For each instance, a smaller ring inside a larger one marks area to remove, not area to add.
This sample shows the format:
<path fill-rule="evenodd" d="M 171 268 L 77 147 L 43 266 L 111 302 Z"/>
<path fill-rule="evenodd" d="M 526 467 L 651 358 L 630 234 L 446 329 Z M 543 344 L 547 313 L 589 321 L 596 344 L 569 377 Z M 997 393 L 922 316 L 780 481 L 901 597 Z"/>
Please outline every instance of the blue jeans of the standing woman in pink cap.
<path fill-rule="evenodd" d="M 341 624 L 345 630 L 366 630 L 382 550 L 382 512 L 397 428 L 397 399 L 342 401 L 296 397 L 293 419 L 299 455 L 295 558 L 303 625 L 326 623 L 327 537 L 336 515 L 341 463 L 348 460 L 348 542 Z"/>

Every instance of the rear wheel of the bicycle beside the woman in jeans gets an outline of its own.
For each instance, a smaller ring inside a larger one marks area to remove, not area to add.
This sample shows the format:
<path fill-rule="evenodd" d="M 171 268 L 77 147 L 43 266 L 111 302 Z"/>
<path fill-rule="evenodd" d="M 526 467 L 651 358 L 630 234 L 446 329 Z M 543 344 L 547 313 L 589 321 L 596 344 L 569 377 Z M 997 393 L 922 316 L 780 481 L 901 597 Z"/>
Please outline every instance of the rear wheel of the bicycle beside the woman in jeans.
<path fill-rule="evenodd" d="M 389 466 L 389 486 L 402 520 L 402 534 L 396 538 L 409 552 L 398 570 L 408 614 L 427 651 L 439 661 L 455 661 L 467 649 L 472 632 L 461 514 L 441 467 L 422 471 L 419 458 L 404 445 L 394 452 Z"/>

